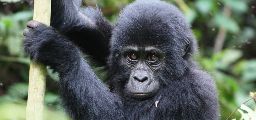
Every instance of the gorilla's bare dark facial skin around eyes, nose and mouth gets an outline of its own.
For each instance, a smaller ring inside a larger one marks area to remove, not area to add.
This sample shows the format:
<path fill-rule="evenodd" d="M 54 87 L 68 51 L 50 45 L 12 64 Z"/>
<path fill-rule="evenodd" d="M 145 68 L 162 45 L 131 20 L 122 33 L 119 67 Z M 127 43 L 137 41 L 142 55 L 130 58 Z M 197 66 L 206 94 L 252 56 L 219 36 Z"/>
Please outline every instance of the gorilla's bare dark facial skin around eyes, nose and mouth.
<path fill-rule="evenodd" d="M 160 87 L 155 71 L 163 64 L 164 53 L 153 46 L 127 46 L 122 54 L 124 63 L 131 68 L 127 93 L 139 100 L 154 96 Z"/>

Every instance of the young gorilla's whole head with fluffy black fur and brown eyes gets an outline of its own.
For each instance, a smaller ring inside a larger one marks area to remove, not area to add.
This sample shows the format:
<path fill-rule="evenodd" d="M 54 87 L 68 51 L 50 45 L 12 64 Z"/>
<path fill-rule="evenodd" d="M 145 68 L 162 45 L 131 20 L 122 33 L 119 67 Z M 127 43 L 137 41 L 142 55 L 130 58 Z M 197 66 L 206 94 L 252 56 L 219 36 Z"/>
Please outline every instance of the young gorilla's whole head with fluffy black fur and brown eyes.
<path fill-rule="evenodd" d="M 110 85 L 135 99 L 148 99 L 183 76 L 196 41 L 182 13 L 165 2 L 126 6 L 112 31 Z"/>

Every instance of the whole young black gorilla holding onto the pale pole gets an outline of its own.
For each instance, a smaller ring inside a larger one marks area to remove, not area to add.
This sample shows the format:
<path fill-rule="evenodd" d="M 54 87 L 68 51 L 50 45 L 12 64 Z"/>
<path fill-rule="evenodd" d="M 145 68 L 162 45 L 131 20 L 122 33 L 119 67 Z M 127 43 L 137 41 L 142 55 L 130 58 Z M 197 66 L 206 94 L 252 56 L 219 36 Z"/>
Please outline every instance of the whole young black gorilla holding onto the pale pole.
<path fill-rule="evenodd" d="M 215 82 L 191 60 L 197 43 L 175 6 L 138 0 L 112 25 L 99 8 L 80 5 L 52 0 L 51 27 L 32 20 L 23 33 L 31 59 L 59 73 L 62 106 L 72 118 L 219 118 Z M 82 52 L 105 66 L 110 89 Z"/>

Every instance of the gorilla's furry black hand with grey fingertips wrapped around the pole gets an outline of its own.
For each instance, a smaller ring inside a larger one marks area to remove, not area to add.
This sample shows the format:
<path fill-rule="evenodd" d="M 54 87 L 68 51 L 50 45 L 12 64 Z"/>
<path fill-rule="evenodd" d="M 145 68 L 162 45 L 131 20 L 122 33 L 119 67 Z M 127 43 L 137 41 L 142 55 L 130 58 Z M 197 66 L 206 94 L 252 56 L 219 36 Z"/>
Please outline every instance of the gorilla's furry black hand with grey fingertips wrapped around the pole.
<path fill-rule="evenodd" d="M 79 49 L 55 28 L 35 20 L 29 21 L 27 27 L 31 29 L 23 31 L 23 49 L 34 61 L 59 69 L 81 57 Z"/>

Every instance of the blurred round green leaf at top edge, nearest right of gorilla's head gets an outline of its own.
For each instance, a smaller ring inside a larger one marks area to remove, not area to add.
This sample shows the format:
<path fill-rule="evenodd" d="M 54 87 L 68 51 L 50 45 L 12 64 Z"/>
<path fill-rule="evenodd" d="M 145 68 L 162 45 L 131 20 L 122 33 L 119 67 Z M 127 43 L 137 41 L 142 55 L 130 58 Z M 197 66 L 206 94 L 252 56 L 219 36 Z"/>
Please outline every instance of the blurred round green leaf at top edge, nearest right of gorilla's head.
<path fill-rule="evenodd" d="M 197 0 L 195 2 L 195 5 L 200 13 L 202 14 L 208 14 L 213 7 L 213 1 L 212 0 Z"/>

